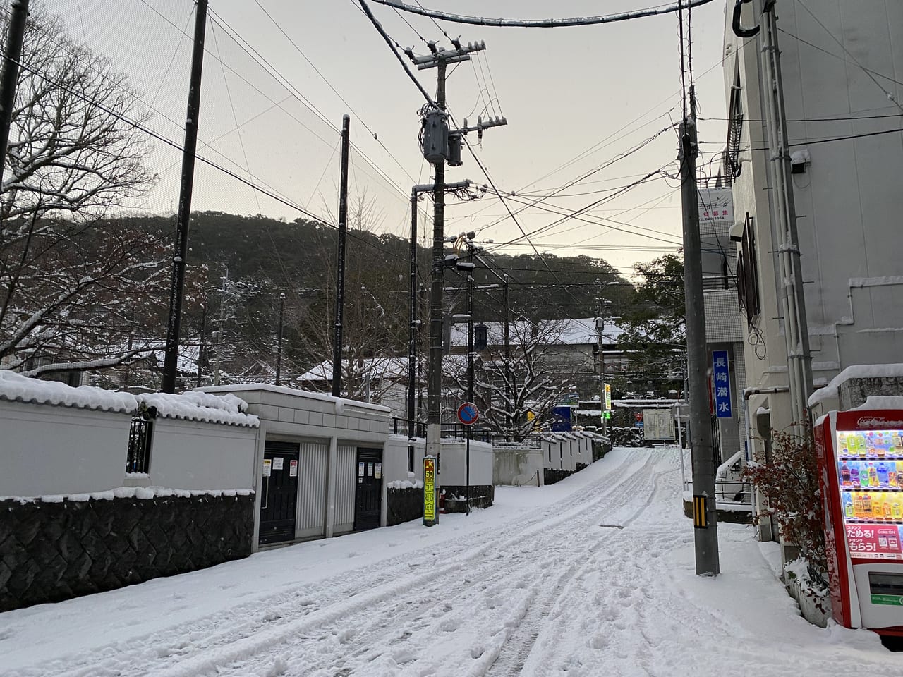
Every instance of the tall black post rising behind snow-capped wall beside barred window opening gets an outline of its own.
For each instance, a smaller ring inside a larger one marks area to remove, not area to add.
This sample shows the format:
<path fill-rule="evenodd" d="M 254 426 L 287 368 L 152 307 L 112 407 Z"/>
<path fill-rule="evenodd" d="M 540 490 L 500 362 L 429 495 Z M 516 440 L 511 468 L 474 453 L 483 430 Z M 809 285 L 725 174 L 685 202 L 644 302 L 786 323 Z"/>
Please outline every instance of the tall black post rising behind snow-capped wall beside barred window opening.
<path fill-rule="evenodd" d="M 166 354 L 163 359 L 163 393 L 175 392 L 179 367 L 179 335 L 182 330 L 182 300 L 185 296 L 185 258 L 188 256 L 188 227 L 191 221 L 191 190 L 194 188 L 194 156 L 198 146 L 200 116 L 200 74 L 204 65 L 204 35 L 207 31 L 207 0 L 197 0 L 194 17 L 194 46 L 191 51 L 191 76 L 188 111 L 185 116 L 185 147 L 182 151 L 182 185 L 179 190 L 179 214 L 172 256 L 169 322 L 166 325 Z"/>

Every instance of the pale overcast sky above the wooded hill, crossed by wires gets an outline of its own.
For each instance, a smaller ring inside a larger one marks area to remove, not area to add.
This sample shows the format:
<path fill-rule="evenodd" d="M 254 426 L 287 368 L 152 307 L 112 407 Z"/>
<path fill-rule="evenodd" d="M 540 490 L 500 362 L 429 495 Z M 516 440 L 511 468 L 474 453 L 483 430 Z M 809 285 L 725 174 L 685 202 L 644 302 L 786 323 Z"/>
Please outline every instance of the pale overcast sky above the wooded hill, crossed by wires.
<path fill-rule="evenodd" d="M 212 24 L 204 61 L 199 155 L 330 218 L 338 203 L 339 135 L 320 116 L 338 128 L 341 116 L 349 113 L 352 143 L 377 168 L 357 151 L 352 153 L 351 191 L 375 201 L 378 230 L 407 237 L 411 186 L 432 181 L 431 167 L 417 144 L 417 111 L 424 97 L 356 0 L 259 3 L 278 27 L 255 0 L 209 1 Z M 507 18 L 612 14 L 649 6 L 645 0 L 422 0 L 422 4 Z M 193 30 L 193 3 L 47 0 L 46 5 L 66 18 L 75 39 L 112 58 L 144 92 L 143 104 L 151 108 L 154 130 L 182 144 L 180 121 L 191 56 L 190 40 L 182 31 L 190 36 Z M 703 118 L 724 117 L 724 6 L 723 0 L 715 0 L 693 13 L 693 67 Z M 451 48 L 442 29 L 452 38 L 460 36 L 461 42 L 486 42 L 485 52 L 451 71 L 448 102 L 459 123 L 466 116 L 472 124 L 484 108 L 489 116 L 507 117 L 508 125 L 488 130 L 481 145 L 476 134 L 469 139 L 498 189 L 517 193 L 508 199 L 510 209 L 517 212 L 524 200 L 610 165 L 545 200 L 544 209 L 518 214 L 527 233 L 561 218 L 552 212 L 581 209 L 649 172 L 666 168 L 676 173 L 676 132 L 662 133 L 681 117 L 676 14 L 575 28 L 521 29 L 437 26 L 425 17 L 402 18 L 385 5 L 370 2 L 370 7 L 394 40 L 418 54 L 427 52 L 420 36 Z M 235 36 L 246 42 L 247 51 Z M 256 57 L 248 51 L 256 52 Z M 264 60 L 269 66 L 262 65 Z M 435 70 L 414 72 L 432 94 Z M 720 119 L 703 119 L 700 139 L 710 142 L 703 145 L 705 150 L 721 147 L 724 128 Z M 658 133 L 642 150 L 611 162 Z M 704 161 L 710 158 L 707 155 Z M 160 180 L 144 209 L 156 213 L 175 209 L 179 160 L 180 153 L 154 142 L 152 163 Z M 712 162 L 712 171 L 716 170 L 717 159 Z M 486 182 L 466 151 L 464 165 L 446 172 L 447 181 L 464 179 Z M 421 206 L 432 210 L 432 202 Z M 302 216 L 200 162 L 192 207 L 261 212 L 288 220 Z M 592 223 L 565 220 L 530 239 L 541 252 L 601 257 L 628 273 L 635 262 L 674 252 L 679 245 L 678 182 L 659 176 L 582 217 Z M 491 195 L 467 204 L 449 199 L 446 219 L 447 234 L 476 230 L 479 238 L 492 239 L 496 246 L 521 235 L 503 204 Z M 520 239 L 502 251 L 517 254 L 532 249 Z"/>

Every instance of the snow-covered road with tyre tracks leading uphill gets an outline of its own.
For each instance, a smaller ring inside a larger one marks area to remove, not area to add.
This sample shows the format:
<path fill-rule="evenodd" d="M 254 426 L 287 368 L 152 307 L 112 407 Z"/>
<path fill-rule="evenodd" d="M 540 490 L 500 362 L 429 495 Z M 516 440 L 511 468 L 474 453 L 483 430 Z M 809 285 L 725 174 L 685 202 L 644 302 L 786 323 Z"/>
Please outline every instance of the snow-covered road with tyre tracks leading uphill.
<path fill-rule="evenodd" d="M 748 528 L 721 525 L 722 575 L 696 577 L 678 468 L 674 449 L 615 450 L 433 529 L 304 543 L 0 614 L 0 673 L 903 673 L 875 635 L 797 617 Z"/>

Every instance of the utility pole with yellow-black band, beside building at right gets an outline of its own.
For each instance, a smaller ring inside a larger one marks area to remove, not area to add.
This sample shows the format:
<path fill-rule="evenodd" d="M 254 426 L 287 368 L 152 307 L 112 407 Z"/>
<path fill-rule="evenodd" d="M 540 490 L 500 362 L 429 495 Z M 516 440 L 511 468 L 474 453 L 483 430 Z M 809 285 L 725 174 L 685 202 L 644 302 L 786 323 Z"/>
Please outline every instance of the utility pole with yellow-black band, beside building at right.
<path fill-rule="evenodd" d="M 690 87 L 690 115 L 680 125 L 681 201 L 684 213 L 684 294 L 686 348 L 690 379 L 691 451 L 693 455 L 694 541 L 696 573 L 716 576 L 718 521 L 715 508 L 715 459 L 708 396 L 708 352 L 705 347 L 703 260 L 696 201 L 696 96 Z"/>

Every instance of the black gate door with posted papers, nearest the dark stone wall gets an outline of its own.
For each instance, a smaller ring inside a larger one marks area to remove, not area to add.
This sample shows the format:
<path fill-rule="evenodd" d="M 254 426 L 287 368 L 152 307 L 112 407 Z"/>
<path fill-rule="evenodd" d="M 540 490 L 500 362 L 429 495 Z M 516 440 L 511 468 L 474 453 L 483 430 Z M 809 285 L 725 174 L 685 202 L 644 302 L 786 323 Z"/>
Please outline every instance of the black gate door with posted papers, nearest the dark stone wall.
<path fill-rule="evenodd" d="M 298 505 L 298 445 L 267 441 L 264 446 L 264 477 L 260 496 L 260 538 L 280 543 L 294 538 Z"/>

